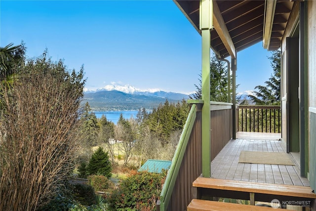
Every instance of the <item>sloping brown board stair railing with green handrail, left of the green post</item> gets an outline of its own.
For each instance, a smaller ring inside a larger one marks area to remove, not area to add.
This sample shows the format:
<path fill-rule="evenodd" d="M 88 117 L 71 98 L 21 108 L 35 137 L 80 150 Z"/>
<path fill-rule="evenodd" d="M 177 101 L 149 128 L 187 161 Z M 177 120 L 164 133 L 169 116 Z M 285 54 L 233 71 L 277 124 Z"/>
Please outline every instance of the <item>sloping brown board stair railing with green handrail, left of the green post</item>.
<path fill-rule="evenodd" d="M 201 104 L 193 104 L 163 185 L 157 211 L 186 210 L 192 183 L 202 172 Z"/>

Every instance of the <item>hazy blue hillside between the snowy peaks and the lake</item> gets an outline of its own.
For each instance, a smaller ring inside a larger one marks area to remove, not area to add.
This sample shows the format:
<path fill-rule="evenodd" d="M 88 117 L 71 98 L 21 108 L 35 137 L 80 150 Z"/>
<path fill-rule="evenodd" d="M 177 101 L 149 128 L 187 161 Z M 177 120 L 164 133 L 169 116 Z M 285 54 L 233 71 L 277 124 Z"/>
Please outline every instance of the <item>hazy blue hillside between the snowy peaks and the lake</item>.
<path fill-rule="evenodd" d="M 160 103 L 163 104 L 166 99 L 170 103 L 177 103 L 183 98 L 188 98 L 185 94 L 164 91 L 148 92 L 147 94 L 138 92 L 129 94 L 118 90 L 97 91 L 85 93 L 82 103 L 89 102 L 93 111 L 138 110 L 143 107 L 151 110 L 157 108 Z"/>

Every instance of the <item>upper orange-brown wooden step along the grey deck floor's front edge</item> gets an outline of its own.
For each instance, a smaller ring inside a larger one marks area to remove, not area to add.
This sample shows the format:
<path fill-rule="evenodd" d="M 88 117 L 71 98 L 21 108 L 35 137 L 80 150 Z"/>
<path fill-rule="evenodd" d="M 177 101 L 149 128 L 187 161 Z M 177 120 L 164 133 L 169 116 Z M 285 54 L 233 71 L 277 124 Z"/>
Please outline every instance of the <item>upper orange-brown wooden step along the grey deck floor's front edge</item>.
<path fill-rule="evenodd" d="M 311 187 L 198 177 L 193 187 L 316 199 Z"/>

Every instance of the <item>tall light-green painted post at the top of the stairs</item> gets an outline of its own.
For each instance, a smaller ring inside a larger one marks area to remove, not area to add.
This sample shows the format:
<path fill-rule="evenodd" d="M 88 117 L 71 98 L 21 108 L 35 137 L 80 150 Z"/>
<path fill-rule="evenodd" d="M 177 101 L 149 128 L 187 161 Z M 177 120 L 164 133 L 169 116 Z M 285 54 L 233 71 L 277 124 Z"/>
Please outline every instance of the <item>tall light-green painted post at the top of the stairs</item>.
<path fill-rule="evenodd" d="M 211 176 L 211 112 L 210 112 L 210 46 L 213 26 L 212 0 L 200 0 L 200 30 L 202 34 L 202 175 Z"/>

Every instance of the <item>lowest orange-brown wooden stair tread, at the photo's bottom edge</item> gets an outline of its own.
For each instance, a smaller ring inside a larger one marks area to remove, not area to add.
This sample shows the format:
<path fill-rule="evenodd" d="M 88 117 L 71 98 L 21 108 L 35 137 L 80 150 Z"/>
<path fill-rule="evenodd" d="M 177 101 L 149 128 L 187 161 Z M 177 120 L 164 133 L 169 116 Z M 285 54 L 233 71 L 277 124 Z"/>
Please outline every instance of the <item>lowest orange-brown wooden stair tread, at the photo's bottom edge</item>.
<path fill-rule="evenodd" d="M 193 199 L 188 211 L 283 211 L 282 209 Z"/>

